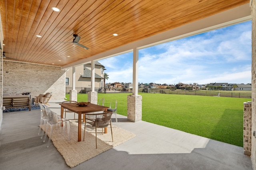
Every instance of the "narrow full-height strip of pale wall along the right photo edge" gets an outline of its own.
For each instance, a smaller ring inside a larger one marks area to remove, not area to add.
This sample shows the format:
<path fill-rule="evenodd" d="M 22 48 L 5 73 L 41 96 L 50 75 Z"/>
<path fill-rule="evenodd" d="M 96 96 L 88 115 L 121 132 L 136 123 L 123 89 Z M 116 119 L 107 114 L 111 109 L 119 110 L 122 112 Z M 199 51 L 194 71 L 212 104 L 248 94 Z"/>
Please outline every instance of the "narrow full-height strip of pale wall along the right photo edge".
<path fill-rule="evenodd" d="M 256 131 L 256 0 L 252 0 L 252 132 Z M 256 138 L 252 137 L 251 160 L 256 170 Z"/>

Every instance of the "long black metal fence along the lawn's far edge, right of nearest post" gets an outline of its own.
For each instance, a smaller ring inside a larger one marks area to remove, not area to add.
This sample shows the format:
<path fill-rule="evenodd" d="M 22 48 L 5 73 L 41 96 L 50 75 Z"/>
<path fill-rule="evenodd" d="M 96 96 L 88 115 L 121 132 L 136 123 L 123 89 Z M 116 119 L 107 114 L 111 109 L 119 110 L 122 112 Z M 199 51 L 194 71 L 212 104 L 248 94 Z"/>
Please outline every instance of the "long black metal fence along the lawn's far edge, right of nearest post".
<path fill-rule="evenodd" d="M 227 92 L 227 91 L 206 91 L 206 90 L 168 90 L 168 89 L 149 89 L 149 93 L 161 94 L 184 94 L 184 95 L 198 95 L 198 96 L 220 96 L 231 98 L 252 98 L 250 92 Z"/>

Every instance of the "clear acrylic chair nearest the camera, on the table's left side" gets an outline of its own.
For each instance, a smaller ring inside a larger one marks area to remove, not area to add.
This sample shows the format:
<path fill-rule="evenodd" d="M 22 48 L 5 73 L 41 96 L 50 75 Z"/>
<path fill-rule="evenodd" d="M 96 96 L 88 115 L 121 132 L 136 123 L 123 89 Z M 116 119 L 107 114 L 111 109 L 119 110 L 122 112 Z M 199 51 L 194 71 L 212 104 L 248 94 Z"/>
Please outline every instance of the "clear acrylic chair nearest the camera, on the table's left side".
<path fill-rule="evenodd" d="M 53 129 L 54 129 L 54 125 L 60 125 L 60 131 L 62 129 L 62 125 L 63 125 L 63 130 L 64 130 L 64 136 L 66 136 L 66 124 L 67 124 L 67 129 L 68 129 L 68 140 L 70 140 L 70 125 L 69 125 L 69 120 L 66 119 L 66 118 L 61 118 L 61 119 L 58 119 L 58 115 L 54 112 L 52 112 L 46 105 L 45 106 L 45 109 L 46 109 L 46 112 L 47 112 L 47 124 L 46 124 L 46 133 L 44 135 L 44 142 L 46 140 L 46 136 L 47 136 L 47 132 L 48 132 L 48 127 L 50 126 L 51 127 L 51 130 L 50 130 L 50 135 L 49 135 L 49 140 L 48 140 L 48 144 L 47 144 L 47 148 L 49 147 L 49 143 L 50 143 L 50 140 L 52 138 L 52 132 L 53 132 Z"/>

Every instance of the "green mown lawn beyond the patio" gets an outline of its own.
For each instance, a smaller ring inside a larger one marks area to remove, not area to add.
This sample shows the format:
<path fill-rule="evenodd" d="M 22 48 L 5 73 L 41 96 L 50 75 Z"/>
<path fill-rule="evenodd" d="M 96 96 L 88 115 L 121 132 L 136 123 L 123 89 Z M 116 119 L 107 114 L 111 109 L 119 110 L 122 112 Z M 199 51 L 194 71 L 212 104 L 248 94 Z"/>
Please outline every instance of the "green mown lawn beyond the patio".
<path fill-rule="evenodd" d="M 139 94 L 143 121 L 243 147 L 243 103 L 250 99 Z M 104 106 L 118 100 L 117 113 L 127 116 L 127 94 L 98 94 L 100 98 L 105 98 Z M 86 101 L 87 94 L 78 94 L 78 102 Z"/>

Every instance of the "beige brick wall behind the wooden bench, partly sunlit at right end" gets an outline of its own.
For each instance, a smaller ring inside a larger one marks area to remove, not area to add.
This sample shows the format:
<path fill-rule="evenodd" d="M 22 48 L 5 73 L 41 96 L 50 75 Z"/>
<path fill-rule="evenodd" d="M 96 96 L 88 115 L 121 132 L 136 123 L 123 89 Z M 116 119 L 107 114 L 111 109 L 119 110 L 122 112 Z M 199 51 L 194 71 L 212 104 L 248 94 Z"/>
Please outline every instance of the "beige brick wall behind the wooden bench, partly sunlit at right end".
<path fill-rule="evenodd" d="M 3 61 L 3 93 L 31 92 L 31 97 L 51 92 L 51 100 L 65 97 L 65 72 L 58 66 Z"/>

